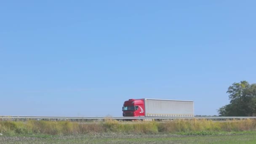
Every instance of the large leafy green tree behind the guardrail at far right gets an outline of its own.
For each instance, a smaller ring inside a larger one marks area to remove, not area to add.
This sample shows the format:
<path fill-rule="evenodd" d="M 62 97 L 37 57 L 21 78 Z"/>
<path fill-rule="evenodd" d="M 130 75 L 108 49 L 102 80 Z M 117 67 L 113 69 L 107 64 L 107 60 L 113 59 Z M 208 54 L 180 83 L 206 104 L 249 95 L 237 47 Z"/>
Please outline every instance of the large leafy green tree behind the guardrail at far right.
<path fill-rule="evenodd" d="M 256 115 L 256 84 L 247 81 L 233 83 L 229 86 L 230 104 L 218 109 L 219 116 L 255 116 Z"/>

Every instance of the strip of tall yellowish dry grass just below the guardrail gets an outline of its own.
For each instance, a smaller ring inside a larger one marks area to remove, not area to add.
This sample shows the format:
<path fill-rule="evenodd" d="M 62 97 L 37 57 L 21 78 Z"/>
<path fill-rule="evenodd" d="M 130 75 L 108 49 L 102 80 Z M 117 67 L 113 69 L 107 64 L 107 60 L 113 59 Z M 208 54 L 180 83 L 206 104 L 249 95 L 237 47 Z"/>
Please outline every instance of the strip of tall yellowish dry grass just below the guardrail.
<path fill-rule="evenodd" d="M 138 121 L 119 122 L 106 119 L 104 122 L 77 123 L 69 121 L 27 122 L 0 121 L 0 133 L 15 135 L 74 135 L 90 133 L 214 135 L 220 132 L 255 131 L 256 120 L 173 120 L 168 122 Z"/>

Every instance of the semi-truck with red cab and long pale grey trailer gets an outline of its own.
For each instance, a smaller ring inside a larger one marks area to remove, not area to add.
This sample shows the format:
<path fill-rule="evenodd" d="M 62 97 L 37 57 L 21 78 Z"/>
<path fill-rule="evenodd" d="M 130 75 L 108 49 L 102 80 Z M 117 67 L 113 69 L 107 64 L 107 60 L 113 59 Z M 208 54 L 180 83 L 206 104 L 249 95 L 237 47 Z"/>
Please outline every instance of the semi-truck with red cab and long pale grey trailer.
<path fill-rule="evenodd" d="M 123 104 L 123 117 L 194 117 L 194 101 L 129 99 Z"/>

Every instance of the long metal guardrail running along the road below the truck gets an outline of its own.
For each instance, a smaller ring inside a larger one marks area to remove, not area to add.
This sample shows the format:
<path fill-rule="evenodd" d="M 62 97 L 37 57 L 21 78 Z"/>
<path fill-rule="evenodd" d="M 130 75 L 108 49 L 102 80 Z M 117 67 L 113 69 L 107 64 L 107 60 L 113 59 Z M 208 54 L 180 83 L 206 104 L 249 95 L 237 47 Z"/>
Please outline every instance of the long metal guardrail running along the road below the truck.
<path fill-rule="evenodd" d="M 256 117 L 45 117 L 45 116 L 0 116 L 0 120 L 148 120 L 148 119 L 256 119 Z"/>

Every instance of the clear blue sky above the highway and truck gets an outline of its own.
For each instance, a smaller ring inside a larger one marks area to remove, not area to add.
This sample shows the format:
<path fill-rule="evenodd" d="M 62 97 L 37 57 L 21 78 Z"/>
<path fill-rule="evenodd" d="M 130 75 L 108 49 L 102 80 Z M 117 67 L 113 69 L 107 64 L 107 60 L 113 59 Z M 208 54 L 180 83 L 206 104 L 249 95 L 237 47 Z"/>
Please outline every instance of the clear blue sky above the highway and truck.
<path fill-rule="evenodd" d="M 255 0 L 1 0 L 0 115 L 122 116 L 128 99 L 218 115 L 256 83 Z"/>

